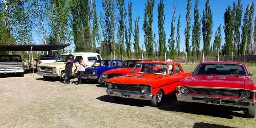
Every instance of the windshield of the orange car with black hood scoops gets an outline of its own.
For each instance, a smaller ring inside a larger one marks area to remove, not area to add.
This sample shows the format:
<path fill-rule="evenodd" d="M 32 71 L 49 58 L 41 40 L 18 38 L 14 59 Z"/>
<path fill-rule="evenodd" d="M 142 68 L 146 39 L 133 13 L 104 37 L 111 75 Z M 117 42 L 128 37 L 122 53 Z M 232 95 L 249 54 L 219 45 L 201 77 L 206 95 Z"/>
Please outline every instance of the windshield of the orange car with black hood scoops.
<path fill-rule="evenodd" d="M 166 74 L 167 64 L 137 64 L 133 73 L 156 73 Z"/>

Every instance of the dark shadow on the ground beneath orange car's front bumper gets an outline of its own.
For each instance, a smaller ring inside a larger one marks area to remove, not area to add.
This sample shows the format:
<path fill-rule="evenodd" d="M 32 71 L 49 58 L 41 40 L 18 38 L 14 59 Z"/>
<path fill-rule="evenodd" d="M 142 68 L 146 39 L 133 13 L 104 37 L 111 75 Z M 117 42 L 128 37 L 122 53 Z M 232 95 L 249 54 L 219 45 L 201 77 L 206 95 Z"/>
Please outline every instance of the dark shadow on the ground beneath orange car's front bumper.
<path fill-rule="evenodd" d="M 97 97 L 96 99 L 103 102 L 117 103 L 120 105 L 129 105 L 129 106 L 137 106 L 137 107 L 150 106 L 149 101 L 114 97 L 114 96 L 108 96 L 108 95 L 100 96 L 100 97 Z"/>

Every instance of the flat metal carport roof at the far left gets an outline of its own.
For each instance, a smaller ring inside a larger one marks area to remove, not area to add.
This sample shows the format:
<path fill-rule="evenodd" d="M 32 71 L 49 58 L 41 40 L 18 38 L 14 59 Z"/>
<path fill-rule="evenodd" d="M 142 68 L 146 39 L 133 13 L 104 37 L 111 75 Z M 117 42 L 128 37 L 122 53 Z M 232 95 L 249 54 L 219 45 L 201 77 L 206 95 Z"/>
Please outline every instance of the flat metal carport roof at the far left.
<path fill-rule="evenodd" d="M 50 50 L 60 50 L 68 47 L 70 44 L 60 44 L 60 45 L 0 45 L 0 51 L 50 51 Z M 31 49 L 32 47 L 32 49 Z"/>

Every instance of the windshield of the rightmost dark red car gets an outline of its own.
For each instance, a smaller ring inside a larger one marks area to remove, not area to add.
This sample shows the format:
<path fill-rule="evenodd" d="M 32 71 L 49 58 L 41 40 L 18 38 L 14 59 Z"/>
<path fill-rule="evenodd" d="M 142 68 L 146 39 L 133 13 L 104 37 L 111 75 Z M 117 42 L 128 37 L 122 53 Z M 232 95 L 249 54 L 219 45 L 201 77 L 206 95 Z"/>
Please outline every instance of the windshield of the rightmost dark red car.
<path fill-rule="evenodd" d="M 200 74 L 246 76 L 244 67 L 239 64 L 201 64 L 194 72 L 194 75 Z"/>

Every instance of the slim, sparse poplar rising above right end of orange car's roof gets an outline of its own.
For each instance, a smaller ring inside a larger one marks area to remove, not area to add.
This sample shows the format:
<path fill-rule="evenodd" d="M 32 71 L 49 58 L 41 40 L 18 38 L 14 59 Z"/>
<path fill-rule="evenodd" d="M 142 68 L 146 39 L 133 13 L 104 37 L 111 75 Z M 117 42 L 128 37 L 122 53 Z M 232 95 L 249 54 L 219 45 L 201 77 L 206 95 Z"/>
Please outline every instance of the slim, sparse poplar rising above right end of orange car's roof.
<path fill-rule="evenodd" d="M 174 2 L 172 8 L 172 21 L 171 21 L 171 34 L 170 38 L 168 39 L 168 47 L 171 53 L 171 57 L 175 57 L 176 49 L 175 49 L 175 39 L 174 39 L 174 31 L 175 31 L 175 14 L 176 14 L 176 3 Z"/>

